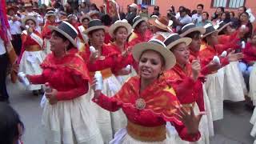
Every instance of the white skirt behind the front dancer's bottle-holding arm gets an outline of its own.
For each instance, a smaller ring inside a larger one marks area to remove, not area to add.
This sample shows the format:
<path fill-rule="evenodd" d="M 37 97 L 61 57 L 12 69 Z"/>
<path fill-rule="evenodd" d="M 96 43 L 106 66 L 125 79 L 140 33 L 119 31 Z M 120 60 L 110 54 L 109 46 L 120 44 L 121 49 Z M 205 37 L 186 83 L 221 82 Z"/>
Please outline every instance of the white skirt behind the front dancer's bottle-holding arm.
<path fill-rule="evenodd" d="M 106 96 L 114 96 L 121 89 L 121 84 L 118 79 L 112 74 L 109 78 L 103 79 L 103 90 L 102 94 Z M 94 91 L 90 89 L 90 98 L 94 98 Z M 127 120 L 126 115 L 122 110 L 110 112 L 102 109 L 96 103 L 91 102 L 94 107 L 94 114 L 96 122 L 101 131 L 104 143 L 109 143 L 114 138 L 114 134 L 126 126 Z"/>

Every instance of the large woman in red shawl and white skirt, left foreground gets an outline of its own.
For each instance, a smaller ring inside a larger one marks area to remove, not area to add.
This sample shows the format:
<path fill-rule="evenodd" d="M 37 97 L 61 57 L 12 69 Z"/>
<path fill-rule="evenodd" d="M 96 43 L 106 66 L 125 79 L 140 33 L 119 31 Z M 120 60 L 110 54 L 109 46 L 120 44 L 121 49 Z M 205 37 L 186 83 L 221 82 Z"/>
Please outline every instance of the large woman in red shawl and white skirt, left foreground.
<path fill-rule="evenodd" d="M 75 47 L 78 32 L 68 22 L 50 29 L 52 53 L 42 62 L 42 74 L 26 75 L 34 84 L 48 82 L 42 112 L 45 143 L 102 144 L 94 110 L 86 98 L 90 77 Z"/>

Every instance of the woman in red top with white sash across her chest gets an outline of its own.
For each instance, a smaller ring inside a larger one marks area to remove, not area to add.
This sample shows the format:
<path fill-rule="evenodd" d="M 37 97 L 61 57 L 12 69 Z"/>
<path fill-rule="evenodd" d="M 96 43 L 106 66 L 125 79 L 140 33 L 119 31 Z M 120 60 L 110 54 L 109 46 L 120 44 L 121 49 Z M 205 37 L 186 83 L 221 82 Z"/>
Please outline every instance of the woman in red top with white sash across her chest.
<path fill-rule="evenodd" d="M 22 19 L 22 24 L 27 30 L 22 31 L 22 53 L 18 58 L 18 71 L 25 74 L 41 74 L 40 64 L 46 55 L 42 52 L 42 35 L 35 30 L 37 19 L 33 16 L 26 16 Z M 33 90 L 34 95 L 38 95 L 38 90 L 41 89 L 42 85 L 26 86 L 26 90 Z"/>

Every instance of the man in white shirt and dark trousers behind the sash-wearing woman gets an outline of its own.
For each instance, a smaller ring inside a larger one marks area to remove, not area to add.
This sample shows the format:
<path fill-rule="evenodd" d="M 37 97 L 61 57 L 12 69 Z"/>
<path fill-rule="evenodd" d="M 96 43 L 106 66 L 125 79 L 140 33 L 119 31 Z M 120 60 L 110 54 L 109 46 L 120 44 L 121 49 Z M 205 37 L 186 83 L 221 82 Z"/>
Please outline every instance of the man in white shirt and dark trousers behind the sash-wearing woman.
<path fill-rule="evenodd" d="M 17 14 L 15 14 L 17 11 L 17 7 L 11 6 L 7 8 L 8 12 L 8 23 L 10 25 L 10 34 L 12 36 L 12 45 L 14 46 L 15 53 L 19 55 L 21 53 L 22 49 L 22 22 L 21 18 L 18 17 Z"/>

